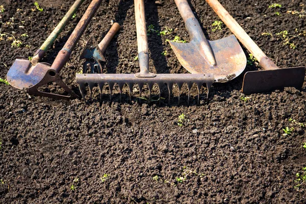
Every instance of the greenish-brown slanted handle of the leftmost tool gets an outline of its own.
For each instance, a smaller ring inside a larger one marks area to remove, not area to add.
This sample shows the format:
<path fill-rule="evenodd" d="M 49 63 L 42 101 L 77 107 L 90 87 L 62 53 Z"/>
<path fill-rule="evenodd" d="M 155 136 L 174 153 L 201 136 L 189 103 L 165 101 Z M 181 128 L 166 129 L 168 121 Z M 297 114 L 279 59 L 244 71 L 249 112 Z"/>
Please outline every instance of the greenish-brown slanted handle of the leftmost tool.
<path fill-rule="evenodd" d="M 62 20 L 59 22 L 59 24 L 52 31 L 52 33 L 48 36 L 48 38 L 44 41 L 44 43 L 40 46 L 40 48 L 36 50 L 34 57 L 31 60 L 32 65 L 36 65 L 43 58 L 46 51 L 54 43 L 54 41 L 63 31 L 69 20 L 72 18 L 73 14 L 77 12 L 77 10 L 80 8 L 83 2 L 84 0 L 77 0 L 73 3 L 73 5 L 68 10 L 68 12 L 65 14 Z"/>

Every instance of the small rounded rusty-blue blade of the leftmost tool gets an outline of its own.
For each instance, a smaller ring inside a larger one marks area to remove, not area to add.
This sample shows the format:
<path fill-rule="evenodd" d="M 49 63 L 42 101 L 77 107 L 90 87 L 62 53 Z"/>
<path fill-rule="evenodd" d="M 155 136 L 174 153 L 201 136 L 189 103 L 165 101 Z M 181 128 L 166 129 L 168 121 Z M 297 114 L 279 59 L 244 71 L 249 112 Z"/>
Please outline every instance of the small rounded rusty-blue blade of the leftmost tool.
<path fill-rule="evenodd" d="M 27 58 L 17 57 L 7 73 L 7 80 L 17 89 L 30 88 L 38 84 L 48 71 L 47 63 L 32 66 Z M 43 65 L 43 66 L 41 66 Z"/>

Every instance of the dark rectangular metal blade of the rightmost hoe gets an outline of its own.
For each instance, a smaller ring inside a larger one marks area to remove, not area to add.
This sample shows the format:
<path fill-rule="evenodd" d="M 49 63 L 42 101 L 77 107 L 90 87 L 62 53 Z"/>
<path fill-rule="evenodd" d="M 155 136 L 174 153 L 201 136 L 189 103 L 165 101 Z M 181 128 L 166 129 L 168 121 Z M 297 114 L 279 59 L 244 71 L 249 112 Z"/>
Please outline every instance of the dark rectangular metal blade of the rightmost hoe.
<path fill-rule="evenodd" d="M 269 92 L 284 87 L 301 88 L 305 77 L 305 67 L 292 67 L 274 70 L 248 71 L 244 75 L 242 92 Z"/>

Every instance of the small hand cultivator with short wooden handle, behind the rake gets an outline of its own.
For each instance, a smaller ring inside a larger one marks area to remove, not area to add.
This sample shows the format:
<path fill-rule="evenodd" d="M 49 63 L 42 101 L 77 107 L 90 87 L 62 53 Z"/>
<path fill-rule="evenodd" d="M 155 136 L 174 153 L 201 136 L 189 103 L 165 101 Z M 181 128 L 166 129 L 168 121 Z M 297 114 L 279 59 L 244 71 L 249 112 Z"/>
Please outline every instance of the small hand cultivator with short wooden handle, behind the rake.
<path fill-rule="evenodd" d="M 102 66 L 100 62 L 106 62 L 103 53 L 105 52 L 112 38 L 119 30 L 120 25 L 119 23 L 115 22 L 106 36 L 97 46 L 94 46 L 96 45 L 94 38 L 89 38 L 80 56 L 80 60 L 86 59 L 83 64 L 83 73 L 86 73 L 88 65 L 90 66 L 90 73 L 95 73 L 95 70 L 97 70 L 98 73 L 102 73 Z"/>

